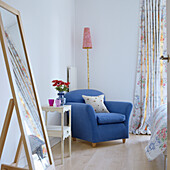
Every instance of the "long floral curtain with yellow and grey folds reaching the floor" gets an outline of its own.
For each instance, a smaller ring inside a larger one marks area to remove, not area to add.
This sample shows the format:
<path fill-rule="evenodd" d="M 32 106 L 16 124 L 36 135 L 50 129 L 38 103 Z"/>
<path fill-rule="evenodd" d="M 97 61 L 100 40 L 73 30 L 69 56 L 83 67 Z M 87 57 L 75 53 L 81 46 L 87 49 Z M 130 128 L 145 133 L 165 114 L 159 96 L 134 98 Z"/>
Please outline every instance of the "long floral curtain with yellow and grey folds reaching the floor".
<path fill-rule="evenodd" d="M 141 0 L 139 52 L 130 132 L 150 134 L 149 116 L 167 102 L 166 0 Z"/>

